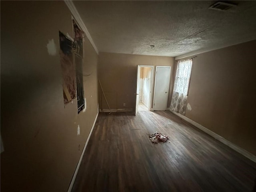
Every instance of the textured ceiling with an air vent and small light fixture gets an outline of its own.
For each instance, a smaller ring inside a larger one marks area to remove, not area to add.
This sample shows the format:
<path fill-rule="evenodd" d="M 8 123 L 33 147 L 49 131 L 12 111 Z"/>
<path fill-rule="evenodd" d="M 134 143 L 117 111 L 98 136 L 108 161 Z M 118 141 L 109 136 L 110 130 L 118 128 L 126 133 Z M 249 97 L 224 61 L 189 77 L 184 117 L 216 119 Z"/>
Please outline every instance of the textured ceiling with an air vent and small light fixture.
<path fill-rule="evenodd" d="M 74 1 L 100 52 L 179 56 L 256 39 L 256 1 Z M 155 48 L 151 49 L 150 45 Z"/>

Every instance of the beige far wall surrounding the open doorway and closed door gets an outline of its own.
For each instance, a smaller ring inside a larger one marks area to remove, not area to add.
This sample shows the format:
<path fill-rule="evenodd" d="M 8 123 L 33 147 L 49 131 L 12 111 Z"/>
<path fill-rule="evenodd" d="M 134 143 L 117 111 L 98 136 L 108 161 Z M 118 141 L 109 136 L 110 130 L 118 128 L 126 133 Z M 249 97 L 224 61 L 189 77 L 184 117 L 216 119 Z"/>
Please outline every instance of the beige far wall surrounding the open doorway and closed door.
<path fill-rule="evenodd" d="M 98 76 L 106 98 L 112 109 L 134 109 L 136 93 L 136 73 L 138 65 L 173 66 L 173 57 L 143 56 L 132 54 L 99 53 Z M 173 71 L 170 87 L 173 82 Z M 153 78 L 154 78 L 153 74 Z M 154 88 L 154 85 L 153 85 Z M 170 105 L 170 95 L 168 106 Z M 152 98 L 153 99 L 153 98 Z M 126 106 L 123 106 L 126 103 Z M 101 109 L 108 109 L 101 90 L 99 90 Z"/>

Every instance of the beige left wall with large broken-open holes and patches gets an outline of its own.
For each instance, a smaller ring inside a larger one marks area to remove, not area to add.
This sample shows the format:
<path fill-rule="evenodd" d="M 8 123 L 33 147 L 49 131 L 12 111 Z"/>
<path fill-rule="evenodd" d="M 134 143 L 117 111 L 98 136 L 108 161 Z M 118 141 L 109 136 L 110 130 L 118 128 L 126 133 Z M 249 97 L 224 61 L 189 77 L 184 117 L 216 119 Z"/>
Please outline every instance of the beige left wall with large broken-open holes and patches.
<path fill-rule="evenodd" d="M 63 1 L 1 1 L 2 192 L 66 191 L 96 117 L 98 55 L 85 38 L 83 68 L 92 74 L 78 115 L 76 99 L 64 108 L 59 30 L 72 36 Z M 55 56 L 46 48 L 52 39 Z"/>

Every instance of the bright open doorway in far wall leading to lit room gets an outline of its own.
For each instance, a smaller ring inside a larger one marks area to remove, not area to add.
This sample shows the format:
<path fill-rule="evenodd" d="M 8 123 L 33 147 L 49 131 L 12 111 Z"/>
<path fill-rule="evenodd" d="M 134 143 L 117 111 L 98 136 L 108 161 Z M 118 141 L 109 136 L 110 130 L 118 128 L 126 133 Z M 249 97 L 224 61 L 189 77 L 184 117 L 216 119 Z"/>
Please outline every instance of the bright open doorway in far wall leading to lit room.
<path fill-rule="evenodd" d="M 151 110 L 153 70 L 153 66 L 138 66 L 136 113 Z"/>

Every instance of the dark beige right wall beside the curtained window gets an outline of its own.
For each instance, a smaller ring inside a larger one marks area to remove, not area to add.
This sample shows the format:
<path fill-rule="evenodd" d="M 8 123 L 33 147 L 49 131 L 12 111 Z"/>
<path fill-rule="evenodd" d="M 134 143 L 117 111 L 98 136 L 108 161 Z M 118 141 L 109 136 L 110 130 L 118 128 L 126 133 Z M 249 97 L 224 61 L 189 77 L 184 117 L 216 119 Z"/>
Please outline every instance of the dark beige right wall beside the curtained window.
<path fill-rule="evenodd" d="M 197 55 L 186 116 L 256 155 L 256 40 Z"/>

